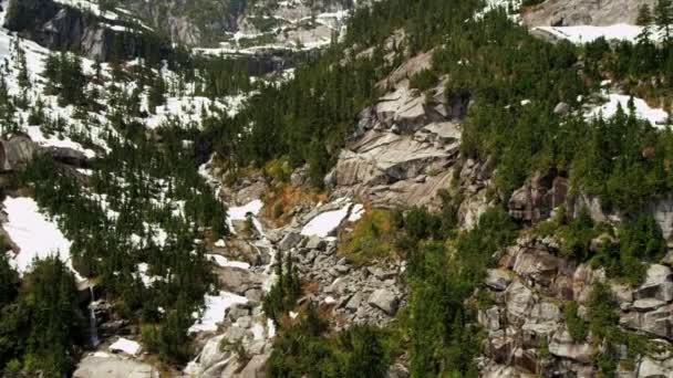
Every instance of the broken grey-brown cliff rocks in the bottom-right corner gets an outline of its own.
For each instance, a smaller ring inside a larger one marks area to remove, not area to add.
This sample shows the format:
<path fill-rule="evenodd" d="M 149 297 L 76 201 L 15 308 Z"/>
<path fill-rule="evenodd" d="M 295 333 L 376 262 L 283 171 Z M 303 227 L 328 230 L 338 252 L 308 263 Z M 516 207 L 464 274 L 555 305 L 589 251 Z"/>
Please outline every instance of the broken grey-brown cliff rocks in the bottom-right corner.
<path fill-rule="evenodd" d="M 664 346 L 673 340 L 673 300 L 669 295 L 673 277 L 669 266 L 651 265 L 645 282 L 629 287 L 608 281 L 602 270 L 561 258 L 556 240 L 539 237 L 519 238 L 499 262 L 500 266 L 488 270 L 485 277 L 495 304 L 477 314 L 488 333 L 479 361 L 482 376 L 594 376 L 591 366 L 600 343 L 591 335 L 586 340 L 572 339 L 562 306 L 576 301 L 580 316 L 584 316 L 591 287 L 599 281 L 611 287 L 621 308 L 621 327 L 659 338 Z M 542 346 L 551 357 L 541 357 Z M 624 374 L 644 371 L 656 377 L 671 366 L 671 356 L 649 354 Z"/>

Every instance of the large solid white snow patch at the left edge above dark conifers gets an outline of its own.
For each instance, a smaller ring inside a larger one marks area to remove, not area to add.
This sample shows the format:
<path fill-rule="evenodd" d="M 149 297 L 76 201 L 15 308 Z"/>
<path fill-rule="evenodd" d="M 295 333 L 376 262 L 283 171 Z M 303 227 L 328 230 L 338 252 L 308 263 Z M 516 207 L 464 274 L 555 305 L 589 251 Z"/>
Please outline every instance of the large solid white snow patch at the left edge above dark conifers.
<path fill-rule="evenodd" d="M 33 259 L 45 259 L 58 254 L 77 280 L 82 280 L 70 261 L 71 242 L 54 221 L 40 212 L 38 203 L 32 198 L 7 197 L 3 204 L 9 218 L 4 223 L 4 230 L 20 250 L 12 260 L 20 274 L 30 271 Z"/>

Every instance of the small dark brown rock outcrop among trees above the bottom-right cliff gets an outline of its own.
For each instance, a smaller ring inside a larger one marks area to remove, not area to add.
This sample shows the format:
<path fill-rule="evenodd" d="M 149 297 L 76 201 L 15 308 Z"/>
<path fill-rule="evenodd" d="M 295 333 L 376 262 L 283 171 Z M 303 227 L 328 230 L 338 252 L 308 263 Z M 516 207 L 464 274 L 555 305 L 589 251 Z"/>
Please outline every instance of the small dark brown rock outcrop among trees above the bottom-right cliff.
<path fill-rule="evenodd" d="M 529 183 L 515 190 L 509 199 L 509 214 L 536 223 L 549 218 L 551 210 L 566 204 L 568 179 L 536 175 Z"/>

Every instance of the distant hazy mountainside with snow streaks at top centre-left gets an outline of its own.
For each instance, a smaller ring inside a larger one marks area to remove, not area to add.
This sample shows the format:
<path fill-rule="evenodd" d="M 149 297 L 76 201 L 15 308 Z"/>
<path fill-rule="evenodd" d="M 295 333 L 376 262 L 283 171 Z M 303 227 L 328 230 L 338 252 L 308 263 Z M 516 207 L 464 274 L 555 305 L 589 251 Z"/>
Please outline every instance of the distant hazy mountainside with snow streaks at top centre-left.
<path fill-rule="evenodd" d="M 293 46 L 323 43 L 339 33 L 343 12 L 352 0 L 115 0 L 131 9 L 172 41 L 191 46 L 277 44 Z"/>

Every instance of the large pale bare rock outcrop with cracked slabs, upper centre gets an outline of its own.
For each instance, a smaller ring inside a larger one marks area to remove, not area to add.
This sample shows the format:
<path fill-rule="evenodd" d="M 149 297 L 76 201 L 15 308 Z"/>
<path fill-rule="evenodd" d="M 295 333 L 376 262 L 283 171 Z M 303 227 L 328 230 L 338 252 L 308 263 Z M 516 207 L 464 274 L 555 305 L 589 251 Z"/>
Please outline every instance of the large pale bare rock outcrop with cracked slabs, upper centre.
<path fill-rule="evenodd" d="M 448 188 L 458 157 L 460 125 L 443 88 L 424 95 L 404 81 L 364 109 L 329 175 L 339 196 L 379 206 L 426 204 Z"/>

